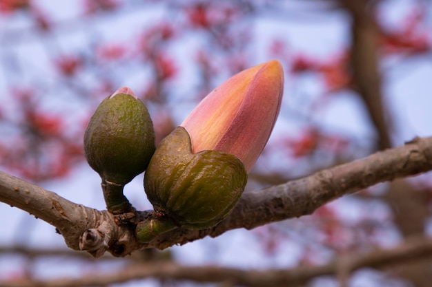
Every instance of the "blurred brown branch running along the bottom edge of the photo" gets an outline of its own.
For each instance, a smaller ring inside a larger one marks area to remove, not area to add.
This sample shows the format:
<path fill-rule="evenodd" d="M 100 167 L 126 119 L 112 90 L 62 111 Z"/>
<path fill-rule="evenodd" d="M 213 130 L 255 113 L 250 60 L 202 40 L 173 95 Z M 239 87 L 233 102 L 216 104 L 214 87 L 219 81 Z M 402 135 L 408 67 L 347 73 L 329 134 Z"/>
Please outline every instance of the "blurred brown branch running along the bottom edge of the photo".
<path fill-rule="evenodd" d="M 181 266 L 173 262 L 130 264 L 109 274 L 90 274 L 75 279 L 14 279 L 0 281 L 0 287 L 75 287 L 106 286 L 132 279 L 175 279 L 200 283 L 229 281 L 233 286 L 299 286 L 324 275 L 349 275 L 363 267 L 386 268 L 414 259 L 432 256 L 432 239 L 413 237 L 393 248 L 375 249 L 338 255 L 333 261 L 320 266 L 300 266 L 292 269 L 244 270 L 219 266 Z"/>

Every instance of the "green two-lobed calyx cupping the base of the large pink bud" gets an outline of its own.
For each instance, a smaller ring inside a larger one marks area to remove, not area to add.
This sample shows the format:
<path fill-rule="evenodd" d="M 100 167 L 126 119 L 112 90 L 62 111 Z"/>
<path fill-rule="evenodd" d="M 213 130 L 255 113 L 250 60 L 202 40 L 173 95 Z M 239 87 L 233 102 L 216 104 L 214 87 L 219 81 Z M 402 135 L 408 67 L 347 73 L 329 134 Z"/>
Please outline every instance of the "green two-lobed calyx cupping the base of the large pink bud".
<path fill-rule="evenodd" d="M 146 194 L 155 211 L 190 229 L 209 228 L 223 220 L 239 200 L 246 182 L 246 169 L 237 157 L 224 151 L 192 153 L 183 127 L 161 141 L 144 177 Z M 168 226 L 165 221 L 156 224 Z M 142 242 L 157 236 L 158 228 L 147 232 L 150 228 L 146 224 L 150 223 L 137 226 L 137 237 Z M 159 228 L 159 233 L 164 229 Z"/>

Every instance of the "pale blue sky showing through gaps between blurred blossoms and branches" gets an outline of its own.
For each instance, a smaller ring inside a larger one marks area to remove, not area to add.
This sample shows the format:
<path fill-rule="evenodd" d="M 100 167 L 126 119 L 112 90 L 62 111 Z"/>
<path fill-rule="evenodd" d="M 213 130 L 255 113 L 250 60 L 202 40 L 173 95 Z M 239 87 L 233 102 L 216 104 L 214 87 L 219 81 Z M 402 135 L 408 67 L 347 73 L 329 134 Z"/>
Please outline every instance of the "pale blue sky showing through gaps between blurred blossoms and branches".
<path fill-rule="evenodd" d="M 295 1 L 294 1 L 295 2 Z M 59 21 L 66 21 L 71 19 L 79 13 L 77 10 L 76 1 L 50 1 L 50 0 L 39 0 L 38 3 L 43 6 L 44 9 L 52 10 L 52 15 L 57 15 Z M 397 25 L 398 20 L 404 14 L 407 7 L 409 7 L 410 1 L 400 0 L 391 1 L 391 7 L 387 7 L 386 22 L 388 25 Z M 286 4 L 289 5 L 289 4 Z M 302 5 L 302 4 L 292 4 Z M 99 36 L 114 37 L 116 40 L 124 39 L 128 41 L 136 31 L 132 28 L 138 25 L 146 25 L 146 22 L 153 23 L 159 21 L 164 16 L 164 11 L 160 6 L 152 6 L 147 10 L 145 17 L 142 11 L 129 10 L 127 12 L 128 17 L 119 17 L 115 19 L 115 23 L 112 19 L 101 19 L 95 27 L 92 29 L 98 30 Z M 346 17 L 340 13 L 333 13 L 331 17 L 327 19 L 320 19 L 319 21 L 299 21 L 293 16 L 293 19 L 284 20 L 288 25 L 280 25 L 280 19 L 277 17 L 264 17 L 264 19 L 254 23 L 253 32 L 256 36 L 259 36 L 263 41 L 257 43 L 255 50 L 257 51 L 257 63 L 266 61 L 266 50 L 268 48 L 266 39 L 271 39 L 273 36 L 285 33 L 287 39 L 295 39 L 289 44 L 290 53 L 297 54 L 313 54 L 322 59 L 331 58 L 335 51 L 339 47 L 348 44 L 348 27 L 346 26 Z M 0 27 L 5 25 L 7 19 L 0 16 Z M 19 25 L 25 25 L 26 20 L 23 19 Z M 61 44 L 59 50 L 63 52 L 68 49 L 74 49 L 81 45 L 81 41 L 85 38 L 86 25 L 88 23 L 81 23 L 81 28 L 77 30 L 69 31 L 65 25 L 59 34 L 61 38 Z M 0 28 L 0 33 L 2 32 Z M 1 35 L 1 34 L 0 34 Z M 28 35 L 28 39 L 32 36 Z M 1 37 L 0 37 L 1 39 Z M 181 55 L 188 51 L 188 45 L 191 45 L 193 39 L 188 39 L 184 45 L 179 46 L 177 53 L 179 59 Z M 32 43 L 30 41 L 30 43 Z M 23 42 L 21 45 L 15 47 L 6 47 L 6 49 L 19 49 L 22 54 L 27 54 L 27 58 L 32 65 L 43 67 L 43 61 L 47 59 L 35 59 L 35 54 L 41 54 L 37 52 L 40 48 L 38 45 L 28 44 Z M 0 47 L 1 49 L 1 47 Z M 30 61 L 31 60 L 31 61 Z M 384 63 L 382 69 L 389 71 L 388 78 L 384 81 L 384 94 L 391 110 L 396 113 L 397 116 L 397 134 L 393 139 L 396 145 L 402 145 L 404 141 L 410 140 L 414 136 L 431 136 L 432 135 L 432 113 L 430 107 L 432 106 L 432 97 L 430 95 L 430 85 L 432 78 L 432 61 L 415 61 L 414 63 L 403 63 L 400 64 L 398 59 L 393 59 L 389 63 Z M 186 60 L 182 65 L 187 67 Z M 186 71 L 193 73 L 193 70 Z M 33 73 L 46 73 L 45 81 L 53 81 L 50 79 L 52 71 L 40 71 L 35 70 Z M 0 76 L 0 91 L 5 88 L 5 71 L 1 72 L 3 76 Z M 135 77 L 129 78 L 124 83 L 120 83 L 121 86 L 139 87 L 139 78 L 142 74 L 138 74 Z M 190 78 L 186 72 L 184 78 Z M 179 85 L 184 82 L 184 78 L 180 78 Z M 30 81 L 30 79 L 24 79 L 24 81 Z M 301 85 L 301 89 L 300 86 Z M 302 97 L 313 96 L 317 89 L 320 89 L 320 83 L 317 83 L 316 78 L 302 78 L 302 79 L 286 79 L 285 96 L 283 105 L 286 107 L 293 107 L 293 109 L 299 109 L 299 103 L 304 100 Z M 67 93 L 67 92 L 66 92 Z M 2 95 L 3 94 L 3 95 Z M 52 97 L 50 102 L 46 103 L 47 109 L 63 107 L 65 98 Z M 7 96 L 3 92 L 0 92 L 0 100 L 8 100 Z M 75 107 L 75 110 L 79 111 L 79 103 L 70 103 L 68 108 Z M 326 108 L 320 109 L 317 114 L 309 115 L 313 118 L 313 121 L 322 123 L 323 126 L 332 127 L 337 131 L 343 133 L 353 134 L 356 137 L 368 138 L 371 134 L 371 125 L 366 120 L 366 114 L 364 110 L 360 109 L 358 99 L 348 92 L 341 92 L 337 96 L 330 98 L 325 103 Z M 187 110 L 193 107 L 185 107 L 177 115 L 179 123 L 186 116 Z M 308 107 L 302 107 L 300 109 L 308 111 Z M 298 127 L 293 125 L 293 116 L 282 114 L 279 117 L 277 125 L 275 126 L 274 133 L 281 134 L 286 132 L 295 133 L 298 131 Z M 274 137 L 276 138 L 276 136 Z M 272 140 L 272 139 L 271 139 Z M 138 176 L 130 184 L 126 186 L 126 196 L 130 199 L 132 204 L 137 209 L 150 209 L 150 204 L 146 201 L 146 196 L 142 190 L 143 177 Z M 42 186 L 50 191 L 55 191 L 59 195 L 71 200 L 73 202 L 79 202 L 87 206 L 91 206 L 96 209 L 105 209 L 103 198 L 101 193 L 93 191 L 99 190 L 100 179 L 97 173 L 92 171 L 86 163 L 79 164 L 75 169 L 72 170 L 66 178 L 50 180 L 43 182 Z M 88 193 L 82 193 L 77 191 L 88 190 Z M 356 212 L 360 212 L 358 204 L 350 202 L 349 198 L 338 200 L 333 204 L 348 204 L 350 206 L 347 209 L 341 207 L 341 212 L 346 213 L 346 216 L 355 217 Z M 351 204 L 351 205 L 350 205 Z M 383 206 L 375 206 L 375 216 L 385 217 L 388 215 Z M 63 238 L 60 235 L 55 234 L 55 229 L 41 222 L 41 220 L 35 220 L 33 217 L 29 218 L 29 215 L 19 211 L 18 209 L 11 208 L 6 204 L 0 204 L 0 220 L 3 231 L 0 235 L 0 245 L 13 244 L 25 244 L 26 246 L 34 246 L 39 248 L 49 248 L 52 246 L 63 248 L 65 244 Z M 7 218 L 7 220 L 5 220 Z M 295 228 L 295 220 L 288 220 L 288 226 Z M 245 231 L 243 229 L 229 231 L 224 235 L 217 238 L 208 238 L 204 240 L 198 240 L 186 244 L 185 246 L 174 246 L 170 248 L 175 254 L 176 259 L 184 264 L 221 264 L 223 266 L 234 266 L 240 268 L 289 268 L 295 266 L 297 260 L 302 255 L 302 246 L 298 246 L 295 241 L 286 240 L 278 247 L 277 253 L 272 256 L 266 256 L 266 251 L 262 246 L 262 242 L 259 240 L 259 234 L 266 232 L 265 229 L 256 228 L 254 231 Z M 389 240 L 383 242 L 383 244 L 395 244 L 398 241 L 397 234 L 391 233 Z M 68 261 L 68 264 L 59 264 L 56 260 L 47 260 L 37 265 L 35 273 L 41 277 L 52 277 L 52 276 L 66 276 L 66 275 L 77 275 L 79 273 L 85 273 L 88 270 L 87 265 L 80 266 L 73 260 Z M 22 264 L 22 259 L 19 257 L 0 257 L 0 279 L 4 276 L 14 273 L 17 270 L 17 266 Z M 121 264 L 114 263 L 114 264 Z M 59 269 L 59 265 L 63 265 L 63 268 Z M 56 267 L 47 268 L 47 266 Z M 51 271 L 52 270 L 52 271 Z M 364 282 L 377 276 L 375 273 L 370 271 L 366 276 L 357 277 Z M 147 286 L 155 286 L 153 281 L 146 281 Z M 334 286 L 334 281 L 321 282 L 320 286 Z M 327 284 L 327 285 L 326 285 Z M 135 283 L 129 283 L 122 286 L 142 286 Z M 359 285 L 360 286 L 360 285 Z"/>

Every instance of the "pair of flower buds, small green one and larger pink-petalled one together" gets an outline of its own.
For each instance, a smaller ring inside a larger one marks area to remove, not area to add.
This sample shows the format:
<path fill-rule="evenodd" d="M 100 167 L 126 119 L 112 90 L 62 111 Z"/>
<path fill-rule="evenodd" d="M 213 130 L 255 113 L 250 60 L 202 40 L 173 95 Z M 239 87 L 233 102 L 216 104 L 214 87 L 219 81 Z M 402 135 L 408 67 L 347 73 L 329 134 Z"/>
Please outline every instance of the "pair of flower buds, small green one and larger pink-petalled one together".
<path fill-rule="evenodd" d="M 284 75 L 277 61 L 244 70 L 210 92 L 155 147 L 144 103 L 123 87 L 90 119 L 84 149 L 99 173 L 108 211 L 135 212 L 123 194 L 139 173 L 154 211 L 136 223 L 150 242 L 179 226 L 210 228 L 226 217 L 244 191 L 251 169 L 279 114 Z"/>

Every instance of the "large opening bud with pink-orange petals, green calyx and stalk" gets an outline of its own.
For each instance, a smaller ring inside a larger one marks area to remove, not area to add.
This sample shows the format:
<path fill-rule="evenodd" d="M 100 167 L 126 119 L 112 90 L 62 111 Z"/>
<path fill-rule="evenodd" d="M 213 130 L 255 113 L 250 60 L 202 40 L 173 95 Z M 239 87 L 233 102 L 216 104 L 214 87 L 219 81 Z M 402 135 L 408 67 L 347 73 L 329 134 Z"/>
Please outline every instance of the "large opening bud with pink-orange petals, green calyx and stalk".
<path fill-rule="evenodd" d="M 283 82 L 277 61 L 244 70 L 161 141 L 144 176 L 155 213 L 137 225 L 138 240 L 177 226 L 210 228 L 230 213 L 275 125 Z"/>

